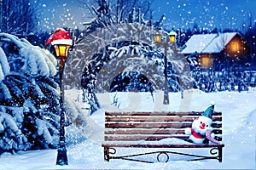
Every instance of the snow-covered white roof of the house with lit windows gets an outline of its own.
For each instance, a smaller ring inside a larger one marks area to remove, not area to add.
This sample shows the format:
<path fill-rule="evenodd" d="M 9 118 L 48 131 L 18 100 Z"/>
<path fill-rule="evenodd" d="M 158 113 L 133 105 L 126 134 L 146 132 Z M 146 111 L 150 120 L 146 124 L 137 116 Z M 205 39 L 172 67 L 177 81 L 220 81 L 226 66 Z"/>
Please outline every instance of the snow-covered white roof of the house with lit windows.
<path fill-rule="evenodd" d="M 182 54 L 213 54 L 220 53 L 238 32 L 218 34 L 195 34 L 185 43 Z"/>

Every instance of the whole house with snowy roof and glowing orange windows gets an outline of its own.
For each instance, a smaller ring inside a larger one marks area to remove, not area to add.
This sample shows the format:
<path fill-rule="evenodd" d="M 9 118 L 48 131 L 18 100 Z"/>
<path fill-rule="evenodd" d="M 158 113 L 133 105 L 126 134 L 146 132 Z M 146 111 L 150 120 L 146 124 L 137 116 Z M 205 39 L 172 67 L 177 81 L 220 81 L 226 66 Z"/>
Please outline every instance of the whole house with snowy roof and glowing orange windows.
<path fill-rule="evenodd" d="M 249 46 L 238 32 L 193 35 L 181 53 L 195 58 L 195 67 L 215 71 L 246 67 L 250 59 Z"/>

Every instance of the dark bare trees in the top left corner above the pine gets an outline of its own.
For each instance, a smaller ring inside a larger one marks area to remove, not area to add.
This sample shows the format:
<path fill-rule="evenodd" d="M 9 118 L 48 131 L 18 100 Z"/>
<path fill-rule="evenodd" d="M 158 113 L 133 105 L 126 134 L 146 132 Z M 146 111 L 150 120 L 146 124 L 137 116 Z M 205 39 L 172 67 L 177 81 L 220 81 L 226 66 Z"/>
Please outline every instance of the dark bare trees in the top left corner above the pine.
<path fill-rule="evenodd" d="M 35 2 L 32 0 L 0 0 L 0 31 L 22 35 L 34 31 L 38 21 L 38 9 Z"/>

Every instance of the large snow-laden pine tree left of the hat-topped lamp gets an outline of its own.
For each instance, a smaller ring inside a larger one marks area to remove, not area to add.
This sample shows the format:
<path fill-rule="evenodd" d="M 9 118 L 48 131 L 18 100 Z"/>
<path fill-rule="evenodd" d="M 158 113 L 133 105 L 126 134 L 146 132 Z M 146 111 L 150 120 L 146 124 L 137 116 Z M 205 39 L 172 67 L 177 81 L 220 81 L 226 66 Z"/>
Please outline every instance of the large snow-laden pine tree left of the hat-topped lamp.
<path fill-rule="evenodd" d="M 26 39 L 0 33 L 0 150 L 56 147 L 56 60 Z M 1 151 L 0 151 L 1 152 Z"/>

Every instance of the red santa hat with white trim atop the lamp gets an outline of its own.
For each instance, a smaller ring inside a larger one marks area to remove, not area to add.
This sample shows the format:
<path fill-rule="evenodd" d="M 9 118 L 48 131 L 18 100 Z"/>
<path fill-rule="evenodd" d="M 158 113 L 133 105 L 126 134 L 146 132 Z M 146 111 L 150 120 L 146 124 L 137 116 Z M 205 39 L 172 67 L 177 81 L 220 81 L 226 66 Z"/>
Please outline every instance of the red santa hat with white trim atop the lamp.
<path fill-rule="evenodd" d="M 63 28 L 57 28 L 55 32 L 46 41 L 44 48 L 46 48 L 50 43 L 52 45 L 55 45 L 55 44 L 72 45 L 73 40 L 68 31 L 64 30 Z"/>

